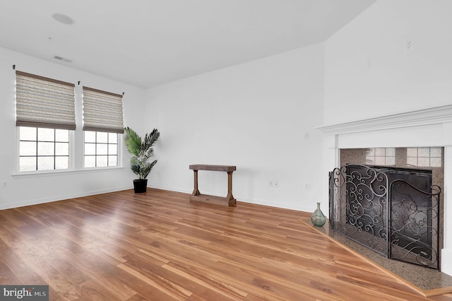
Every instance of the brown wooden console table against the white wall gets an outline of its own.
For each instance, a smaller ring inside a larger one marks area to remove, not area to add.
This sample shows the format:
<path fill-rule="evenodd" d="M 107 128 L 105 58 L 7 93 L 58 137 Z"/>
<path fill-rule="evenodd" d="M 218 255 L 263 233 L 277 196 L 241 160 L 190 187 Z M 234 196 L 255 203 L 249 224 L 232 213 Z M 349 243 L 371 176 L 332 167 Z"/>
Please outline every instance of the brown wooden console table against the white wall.
<path fill-rule="evenodd" d="M 232 172 L 236 170 L 235 166 L 230 165 L 205 165 L 195 164 L 190 165 L 190 169 L 194 172 L 194 189 L 193 194 L 190 196 L 190 201 L 199 201 L 203 203 L 214 203 L 222 206 L 235 206 L 237 201 L 232 196 Z M 198 170 L 210 170 L 215 172 L 227 172 L 227 196 L 209 196 L 207 194 L 201 194 L 198 190 Z"/>

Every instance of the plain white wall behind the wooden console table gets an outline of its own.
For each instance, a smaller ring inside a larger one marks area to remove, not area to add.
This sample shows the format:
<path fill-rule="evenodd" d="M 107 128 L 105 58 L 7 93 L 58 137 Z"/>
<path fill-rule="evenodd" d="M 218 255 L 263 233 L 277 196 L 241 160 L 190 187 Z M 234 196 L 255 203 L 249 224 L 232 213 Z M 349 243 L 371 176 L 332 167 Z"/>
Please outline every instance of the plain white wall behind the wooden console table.
<path fill-rule="evenodd" d="M 313 129 L 322 123 L 323 45 L 150 88 L 147 99 L 147 131 L 162 134 L 151 186 L 191 193 L 189 165 L 236 165 L 238 201 L 309 212 L 327 203 L 318 196 L 328 175 Z M 198 174 L 201 193 L 225 196 L 225 172 Z"/>

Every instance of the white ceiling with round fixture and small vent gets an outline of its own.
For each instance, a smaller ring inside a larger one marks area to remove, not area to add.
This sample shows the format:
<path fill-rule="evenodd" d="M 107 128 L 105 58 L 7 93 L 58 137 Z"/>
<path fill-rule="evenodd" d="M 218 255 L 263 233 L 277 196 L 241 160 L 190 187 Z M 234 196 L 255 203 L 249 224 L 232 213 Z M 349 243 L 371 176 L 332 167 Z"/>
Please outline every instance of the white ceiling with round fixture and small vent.
<path fill-rule="evenodd" d="M 323 42 L 375 1 L 0 0 L 0 47 L 148 88 Z"/>

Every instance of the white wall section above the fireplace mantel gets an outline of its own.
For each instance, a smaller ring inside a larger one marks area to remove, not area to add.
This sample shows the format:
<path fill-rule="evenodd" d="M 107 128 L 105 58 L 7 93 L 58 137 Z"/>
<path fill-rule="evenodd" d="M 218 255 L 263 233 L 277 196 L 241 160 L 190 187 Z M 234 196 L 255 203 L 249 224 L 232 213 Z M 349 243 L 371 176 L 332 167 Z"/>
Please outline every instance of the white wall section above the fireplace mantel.
<path fill-rule="evenodd" d="M 451 11 L 449 0 L 379 0 L 328 39 L 325 123 L 450 104 Z"/>

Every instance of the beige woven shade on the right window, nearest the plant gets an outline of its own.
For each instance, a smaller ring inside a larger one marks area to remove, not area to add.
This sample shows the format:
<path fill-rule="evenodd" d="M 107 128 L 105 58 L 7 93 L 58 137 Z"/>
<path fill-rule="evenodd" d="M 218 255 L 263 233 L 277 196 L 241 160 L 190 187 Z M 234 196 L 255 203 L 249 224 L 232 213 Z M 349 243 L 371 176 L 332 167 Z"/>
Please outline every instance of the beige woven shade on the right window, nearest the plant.
<path fill-rule="evenodd" d="M 83 131 L 124 133 L 122 95 L 83 87 Z"/>

